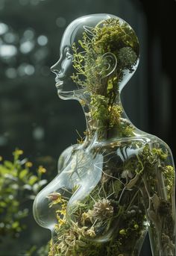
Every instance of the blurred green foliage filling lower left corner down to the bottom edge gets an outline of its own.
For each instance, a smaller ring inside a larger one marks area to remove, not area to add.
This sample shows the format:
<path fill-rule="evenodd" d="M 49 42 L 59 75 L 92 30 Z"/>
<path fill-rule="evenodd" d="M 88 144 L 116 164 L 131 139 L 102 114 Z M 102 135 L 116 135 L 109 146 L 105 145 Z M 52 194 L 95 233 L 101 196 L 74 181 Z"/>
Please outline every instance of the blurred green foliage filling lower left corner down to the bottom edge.
<path fill-rule="evenodd" d="M 13 160 L 0 158 L 0 243 L 1 255 L 32 255 L 39 251 L 39 245 L 29 239 L 32 227 L 32 203 L 40 189 L 47 184 L 43 179 L 46 169 L 39 166 L 31 169 L 33 163 L 22 157 L 22 150 L 13 152 Z M 31 225 L 31 228 L 29 226 Z M 46 249 L 47 242 L 43 242 Z"/>

